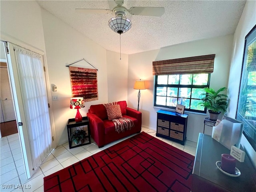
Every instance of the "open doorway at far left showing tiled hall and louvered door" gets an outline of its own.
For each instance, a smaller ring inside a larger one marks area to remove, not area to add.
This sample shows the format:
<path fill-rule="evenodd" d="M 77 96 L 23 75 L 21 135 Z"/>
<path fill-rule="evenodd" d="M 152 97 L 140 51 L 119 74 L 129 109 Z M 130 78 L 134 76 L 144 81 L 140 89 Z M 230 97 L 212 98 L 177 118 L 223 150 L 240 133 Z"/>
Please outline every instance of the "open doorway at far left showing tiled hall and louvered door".
<path fill-rule="evenodd" d="M 2 41 L 0 41 L 0 72 L 0 185 L 7 184 L 9 180 L 17 185 L 21 184 L 20 178 L 26 178 L 26 174 Z"/>

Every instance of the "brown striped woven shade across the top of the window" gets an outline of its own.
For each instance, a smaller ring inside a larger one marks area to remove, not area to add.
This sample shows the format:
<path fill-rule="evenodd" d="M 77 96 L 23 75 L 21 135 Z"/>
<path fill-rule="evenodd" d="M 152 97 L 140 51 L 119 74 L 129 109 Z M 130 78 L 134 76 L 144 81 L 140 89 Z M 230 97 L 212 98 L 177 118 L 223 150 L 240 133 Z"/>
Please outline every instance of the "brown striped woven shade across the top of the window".
<path fill-rule="evenodd" d="M 215 54 L 153 61 L 153 75 L 212 73 Z"/>

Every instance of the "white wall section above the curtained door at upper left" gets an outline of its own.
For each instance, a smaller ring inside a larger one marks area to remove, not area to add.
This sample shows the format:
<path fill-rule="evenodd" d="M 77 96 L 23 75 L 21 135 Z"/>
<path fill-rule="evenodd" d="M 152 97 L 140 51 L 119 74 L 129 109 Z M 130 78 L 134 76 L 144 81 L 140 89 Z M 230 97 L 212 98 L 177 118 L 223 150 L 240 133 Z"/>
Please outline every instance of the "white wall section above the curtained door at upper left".
<path fill-rule="evenodd" d="M 45 51 L 40 9 L 36 1 L 0 1 L 1 36 L 10 36 Z"/>

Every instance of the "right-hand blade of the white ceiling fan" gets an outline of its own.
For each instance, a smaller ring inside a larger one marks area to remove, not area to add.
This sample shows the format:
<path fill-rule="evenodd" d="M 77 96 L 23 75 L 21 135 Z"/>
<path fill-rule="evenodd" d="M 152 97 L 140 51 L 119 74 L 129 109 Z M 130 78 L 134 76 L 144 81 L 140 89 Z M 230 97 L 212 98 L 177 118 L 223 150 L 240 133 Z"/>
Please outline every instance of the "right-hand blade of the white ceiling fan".
<path fill-rule="evenodd" d="M 128 11 L 132 15 L 160 17 L 164 14 L 164 7 L 131 7 Z"/>

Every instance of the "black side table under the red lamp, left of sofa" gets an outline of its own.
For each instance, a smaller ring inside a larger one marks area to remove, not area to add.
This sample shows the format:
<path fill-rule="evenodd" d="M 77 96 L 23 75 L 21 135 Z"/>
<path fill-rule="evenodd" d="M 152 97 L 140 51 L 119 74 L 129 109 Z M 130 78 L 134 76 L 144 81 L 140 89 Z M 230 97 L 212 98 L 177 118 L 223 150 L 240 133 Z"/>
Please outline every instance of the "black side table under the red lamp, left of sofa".
<path fill-rule="evenodd" d="M 80 126 L 87 126 L 88 132 L 87 132 L 86 138 L 84 139 L 84 142 L 80 145 L 76 145 L 76 144 L 74 144 L 74 142 L 72 142 L 70 140 L 70 137 L 71 137 L 72 133 L 74 132 L 74 130 L 72 131 L 72 128 L 80 127 Z M 67 130 L 68 130 L 68 144 L 69 144 L 70 149 L 75 148 L 75 147 L 79 147 L 79 146 L 83 146 L 83 145 L 88 145 L 88 144 L 91 143 L 90 127 L 89 127 L 88 117 L 83 117 L 82 122 L 75 122 L 74 118 L 68 119 Z"/>

